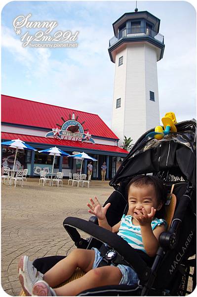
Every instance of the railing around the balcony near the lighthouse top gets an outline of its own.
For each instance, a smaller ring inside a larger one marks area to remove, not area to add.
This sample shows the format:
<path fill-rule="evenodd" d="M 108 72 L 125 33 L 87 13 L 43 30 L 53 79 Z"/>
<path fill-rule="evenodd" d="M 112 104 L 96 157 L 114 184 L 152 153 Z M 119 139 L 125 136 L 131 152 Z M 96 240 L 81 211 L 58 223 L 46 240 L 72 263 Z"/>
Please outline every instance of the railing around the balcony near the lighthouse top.
<path fill-rule="evenodd" d="M 160 43 L 164 43 L 164 36 L 148 27 L 134 27 L 134 28 L 125 28 L 118 32 L 118 37 L 114 36 L 109 41 L 109 47 L 113 46 L 117 43 L 121 38 L 130 38 L 130 37 L 141 37 L 141 36 L 149 36 Z"/>

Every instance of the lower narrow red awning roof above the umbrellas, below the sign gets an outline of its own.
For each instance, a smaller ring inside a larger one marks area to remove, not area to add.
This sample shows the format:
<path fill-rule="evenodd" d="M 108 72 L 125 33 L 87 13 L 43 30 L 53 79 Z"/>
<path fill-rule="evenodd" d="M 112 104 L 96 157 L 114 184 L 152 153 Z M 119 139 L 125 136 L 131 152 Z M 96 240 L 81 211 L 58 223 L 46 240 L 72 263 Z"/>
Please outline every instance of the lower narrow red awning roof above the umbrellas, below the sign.
<path fill-rule="evenodd" d="M 119 148 L 117 146 L 91 144 L 91 143 L 86 143 L 86 142 L 82 143 L 82 142 L 77 142 L 77 141 L 74 142 L 71 140 L 60 140 L 60 139 L 56 139 L 56 138 L 46 138 L 46 137 L 39 137 L 39 136 L 32 136 L 32 135 L 1 132 L 1 139 L 13 140 L 13 139 L 18 139 L 18 138 L 22 141 L 31 143 L 31 145 L 33 147 L 34 147 L 34 143 L 36 143 L 36 144 L 48 144 L 49 146 L 72 147 L 72 148 L 77 148 L 80 151 L 82 151 L 82 149 L 87 148 L 87 149 L 94 149 L 94 150 L 128 153 L 127 150 Z M 95 153 L 96 153 L 96 151 L 95 151 Z"/>

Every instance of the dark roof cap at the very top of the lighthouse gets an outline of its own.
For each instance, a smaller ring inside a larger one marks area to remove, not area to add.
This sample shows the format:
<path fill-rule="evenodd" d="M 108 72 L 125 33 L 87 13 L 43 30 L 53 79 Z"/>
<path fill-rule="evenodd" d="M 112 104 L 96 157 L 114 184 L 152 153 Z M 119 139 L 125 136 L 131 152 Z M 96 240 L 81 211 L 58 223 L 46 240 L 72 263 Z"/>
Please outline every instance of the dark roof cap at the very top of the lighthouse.
<path fill-rule="evenodd" d="M 118 18 L 116 22 L 113 23 L 114 28 L 114 34 L 115 36 L 118 35 L 118 28 L 121 24 L 123 24 L 125 21 L 129 19 L 139 19 L 139 18 L 145 18 L 154 25 L 154 31 L 159 31 L 159 25 L 160 25 L 160 19 L 158 19 L 155 15 L 148 11 L 137 11 L 137 12 L 125 12 Z"/>

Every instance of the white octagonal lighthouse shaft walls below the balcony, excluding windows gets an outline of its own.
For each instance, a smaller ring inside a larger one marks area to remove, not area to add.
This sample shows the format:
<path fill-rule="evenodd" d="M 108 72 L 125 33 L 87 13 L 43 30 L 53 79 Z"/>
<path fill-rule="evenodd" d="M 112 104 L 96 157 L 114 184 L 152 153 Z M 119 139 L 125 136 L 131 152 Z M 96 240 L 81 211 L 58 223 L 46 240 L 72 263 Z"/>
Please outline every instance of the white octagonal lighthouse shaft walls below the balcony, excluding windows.
<path fill-rule="evenodd" d="M 119 57 L 123 64 L 118 66 Z M 155 102 L 150 100 L 155 93 Z M 121 107 L 116 101 L 121 98 Z M 145 43 L 127 44 L 116 55 L 112 127 L 122 145 L 124 135 L 133 144 L 150 128 L 159 124 L 156 49 Z"/>

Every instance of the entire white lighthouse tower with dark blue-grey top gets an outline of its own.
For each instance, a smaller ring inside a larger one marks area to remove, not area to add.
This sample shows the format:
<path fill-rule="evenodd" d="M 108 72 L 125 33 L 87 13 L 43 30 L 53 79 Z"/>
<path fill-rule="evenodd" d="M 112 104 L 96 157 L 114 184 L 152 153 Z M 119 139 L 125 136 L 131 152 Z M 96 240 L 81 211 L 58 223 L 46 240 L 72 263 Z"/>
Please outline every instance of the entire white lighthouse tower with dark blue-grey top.
<path fill-rule="evenodd" d="M 164 38 L 160 20 L 148 11 L 124 13 L 113 23 L 109 54 L 115 66 L 111 129 L 133 143 L 159 125 L 157 61 L 162 59 Z"/>

